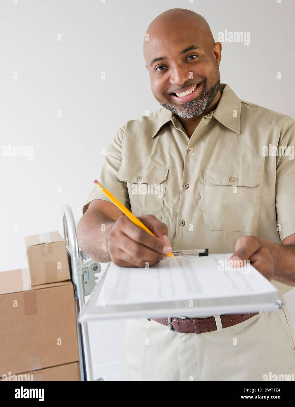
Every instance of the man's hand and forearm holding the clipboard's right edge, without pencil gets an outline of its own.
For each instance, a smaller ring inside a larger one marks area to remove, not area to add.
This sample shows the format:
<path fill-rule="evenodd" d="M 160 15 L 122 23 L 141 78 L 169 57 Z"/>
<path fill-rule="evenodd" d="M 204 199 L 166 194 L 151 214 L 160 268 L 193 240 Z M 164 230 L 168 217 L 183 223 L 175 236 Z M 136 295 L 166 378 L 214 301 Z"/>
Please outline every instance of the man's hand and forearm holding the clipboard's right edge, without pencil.
<path fill-rule="evenodd" d="M 229 259 L 233 265 L 250 260 L 264 277 L 295 287 L 295 234 L 286 237 L 282 245 L 256 236 L 243 236 L 236 242 L 235 253 Z"/>

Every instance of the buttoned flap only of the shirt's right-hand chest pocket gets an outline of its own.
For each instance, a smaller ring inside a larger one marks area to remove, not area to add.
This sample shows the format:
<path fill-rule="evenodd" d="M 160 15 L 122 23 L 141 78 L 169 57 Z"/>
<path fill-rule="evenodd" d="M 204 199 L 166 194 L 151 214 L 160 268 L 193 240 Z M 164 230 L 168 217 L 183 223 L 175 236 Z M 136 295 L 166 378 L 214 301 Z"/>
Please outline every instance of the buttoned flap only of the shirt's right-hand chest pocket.
<path fill-rule="evenodd" d="M 261 165 L 209 165 L 204 178 L 213 185 L 256 186 L 262 181 Z"/>

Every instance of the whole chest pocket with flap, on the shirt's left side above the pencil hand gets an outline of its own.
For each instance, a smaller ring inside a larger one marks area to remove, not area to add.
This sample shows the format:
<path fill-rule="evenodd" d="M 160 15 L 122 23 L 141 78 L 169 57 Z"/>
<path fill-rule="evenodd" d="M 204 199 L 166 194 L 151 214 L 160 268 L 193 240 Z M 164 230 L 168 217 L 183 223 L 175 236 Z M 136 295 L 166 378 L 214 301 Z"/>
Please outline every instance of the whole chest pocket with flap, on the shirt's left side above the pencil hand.
<path fill-rule="evenodd" d="M 169 166 L 122 162 L 117 177 L 127 182 L 131 212 L 162 219 Z"/>

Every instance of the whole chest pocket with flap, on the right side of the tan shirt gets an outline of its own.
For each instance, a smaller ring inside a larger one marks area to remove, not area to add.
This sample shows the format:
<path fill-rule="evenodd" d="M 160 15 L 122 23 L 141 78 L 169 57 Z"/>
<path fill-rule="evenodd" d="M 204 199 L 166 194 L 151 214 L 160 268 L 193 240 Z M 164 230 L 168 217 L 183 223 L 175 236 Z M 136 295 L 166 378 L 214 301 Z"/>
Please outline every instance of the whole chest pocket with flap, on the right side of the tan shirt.
<path fill-rule="evenodd" d="M 210 230 L 253 232 L 260 215 L 263 166 L 210 165 L 205 169 L 203 222 Z"/>

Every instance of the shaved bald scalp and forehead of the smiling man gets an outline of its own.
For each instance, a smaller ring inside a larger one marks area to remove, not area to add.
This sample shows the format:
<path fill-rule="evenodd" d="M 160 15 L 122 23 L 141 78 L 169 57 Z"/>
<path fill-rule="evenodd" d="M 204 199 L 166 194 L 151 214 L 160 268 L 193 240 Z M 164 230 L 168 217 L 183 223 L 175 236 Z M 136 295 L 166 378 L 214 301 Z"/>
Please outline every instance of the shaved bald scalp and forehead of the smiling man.
<path fill-rule="evenodd" d="M 214 38 L 208 22 L 198 13 L 187 9 L 170 9 L 158 15 L 149 25 L 144 38 L 144 59 L 153 44 L 166 42 L 173 37 L 199 38 L 203 46 L 213 47 Z M 148 40 L 146 40 L 148 39 Z"/>

